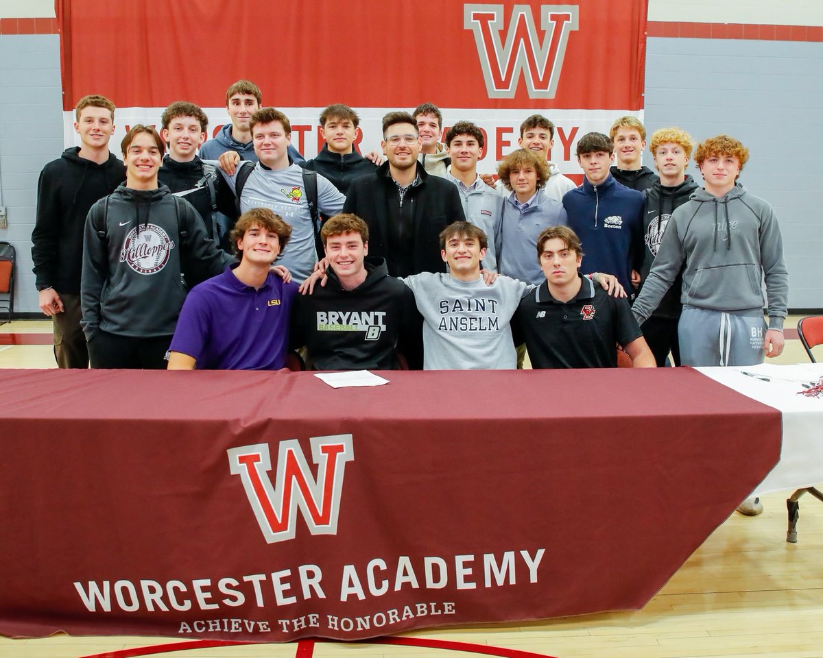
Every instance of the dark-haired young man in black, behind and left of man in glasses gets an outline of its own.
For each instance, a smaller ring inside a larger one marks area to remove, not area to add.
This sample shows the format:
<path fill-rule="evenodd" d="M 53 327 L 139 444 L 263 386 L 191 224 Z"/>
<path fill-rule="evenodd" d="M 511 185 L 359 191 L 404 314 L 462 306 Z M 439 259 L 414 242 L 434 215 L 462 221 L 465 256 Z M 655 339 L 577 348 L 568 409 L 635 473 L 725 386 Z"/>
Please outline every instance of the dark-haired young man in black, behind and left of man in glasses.
<path fill-rule="evenodd" d="M 355 150 L 354 143 L 360 117 L 348 105 L 329 105 L 320 114 L 320 133 L 326 143 L 316 158 L 305 164 L 322 174 L 343 194 L 349 192 L 355 178 L 374 174 L 377 165 Z"/>

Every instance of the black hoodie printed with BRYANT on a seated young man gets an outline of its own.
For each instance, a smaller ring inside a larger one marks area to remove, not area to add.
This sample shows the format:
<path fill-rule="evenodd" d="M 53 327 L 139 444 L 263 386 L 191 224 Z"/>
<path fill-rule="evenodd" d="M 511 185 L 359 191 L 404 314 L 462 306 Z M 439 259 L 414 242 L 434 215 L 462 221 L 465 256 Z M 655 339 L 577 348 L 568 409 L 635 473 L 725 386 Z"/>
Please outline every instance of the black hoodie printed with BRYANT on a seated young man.
<path fill-rule="evenodd" d="M 365 269 L 365 281 L 344 290 L 328 267 L 325 286 L 297 296 L 292 345 L 305 345 L 317 370 L 398 370 L 395 345 L 409 368 L 420 369 L 423 320 L 412 289 L 388 276 L 384 258 L 366 257 Z"/>

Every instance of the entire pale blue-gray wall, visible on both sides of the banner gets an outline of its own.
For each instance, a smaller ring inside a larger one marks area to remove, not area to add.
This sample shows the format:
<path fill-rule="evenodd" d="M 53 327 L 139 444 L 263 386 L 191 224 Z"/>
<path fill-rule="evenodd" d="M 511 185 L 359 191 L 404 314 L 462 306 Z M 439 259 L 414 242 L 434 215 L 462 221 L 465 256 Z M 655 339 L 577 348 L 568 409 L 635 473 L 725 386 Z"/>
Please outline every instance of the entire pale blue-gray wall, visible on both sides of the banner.
<path fill-rule="evenodd" d="M 649 134 L 679 125 L 695 139 L 728 132 L 751 149 L 741 182 L 777 211 L 791 308 L 823 309 L 823 222 L 813 200 L 823 143 L 823 44 L 648 40 Z M 16 312 L 36 313 L 30 236 L 37 177 L 63 151 L 58 35 L 0 35 L 0 172 L 18 257 Z M 645 155 L 649 163 L 649 155 Z M 700 172 L 690 165 L 700 181 Z"/>

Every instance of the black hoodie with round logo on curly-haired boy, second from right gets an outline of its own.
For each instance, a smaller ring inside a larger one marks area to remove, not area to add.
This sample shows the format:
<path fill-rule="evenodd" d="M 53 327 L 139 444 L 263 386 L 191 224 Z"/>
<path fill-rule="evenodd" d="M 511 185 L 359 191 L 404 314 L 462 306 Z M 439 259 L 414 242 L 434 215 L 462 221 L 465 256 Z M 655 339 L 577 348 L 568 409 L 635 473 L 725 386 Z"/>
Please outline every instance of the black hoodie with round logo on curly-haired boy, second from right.
<path fill-rule="evenodd" d="M 643 266 L 640 268 L 640 290 L 643 289 L 643 282 L 649 276 L 654 257 L 658 255 L 660 243 L 663 241 L 663 233 L 669 219 L 672 217 L 672 212 L 675 208 L 686 203 L 691 193 L 697 188 L 698 185 L 695 183 L 694 178 L 691 178 L 690 174 L 686 174 L 686 180 L 673 188 L 661 185 L 658 178 L 651 188 L 644 190 L 643 196 L 646 200 L 646 206 L 643 212 L 643 242 L 645 251 Z M 657 317 L 680 317 L 682 285 L 682 277 L 677 275 L 677 279 L 663 296 L 653 315 Z"/>

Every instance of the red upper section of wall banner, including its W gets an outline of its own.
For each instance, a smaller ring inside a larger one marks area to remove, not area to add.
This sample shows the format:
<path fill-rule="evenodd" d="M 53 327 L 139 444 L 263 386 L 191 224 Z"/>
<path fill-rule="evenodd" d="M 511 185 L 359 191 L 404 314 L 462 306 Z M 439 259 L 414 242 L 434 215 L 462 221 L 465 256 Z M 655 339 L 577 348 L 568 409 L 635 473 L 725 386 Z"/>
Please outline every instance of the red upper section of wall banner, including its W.
<path fill-rule="evenodd" d="M 646 0 L 495 3 L 58 0 L 64 109 L 264 104 L 323 108 L 643 107 Z"/>

